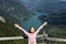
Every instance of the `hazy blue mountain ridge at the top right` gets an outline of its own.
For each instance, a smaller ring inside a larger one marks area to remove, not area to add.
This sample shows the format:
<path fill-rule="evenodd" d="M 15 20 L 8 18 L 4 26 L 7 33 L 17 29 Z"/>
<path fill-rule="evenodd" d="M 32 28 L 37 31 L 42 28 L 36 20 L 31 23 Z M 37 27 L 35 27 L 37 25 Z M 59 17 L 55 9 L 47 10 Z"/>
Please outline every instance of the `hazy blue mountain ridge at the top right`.
<path fill-rule="evenodd" d="M 42 12 L 64 12 L 66 11 L 66 1 L 42 0 L 34 9 Z"/>

